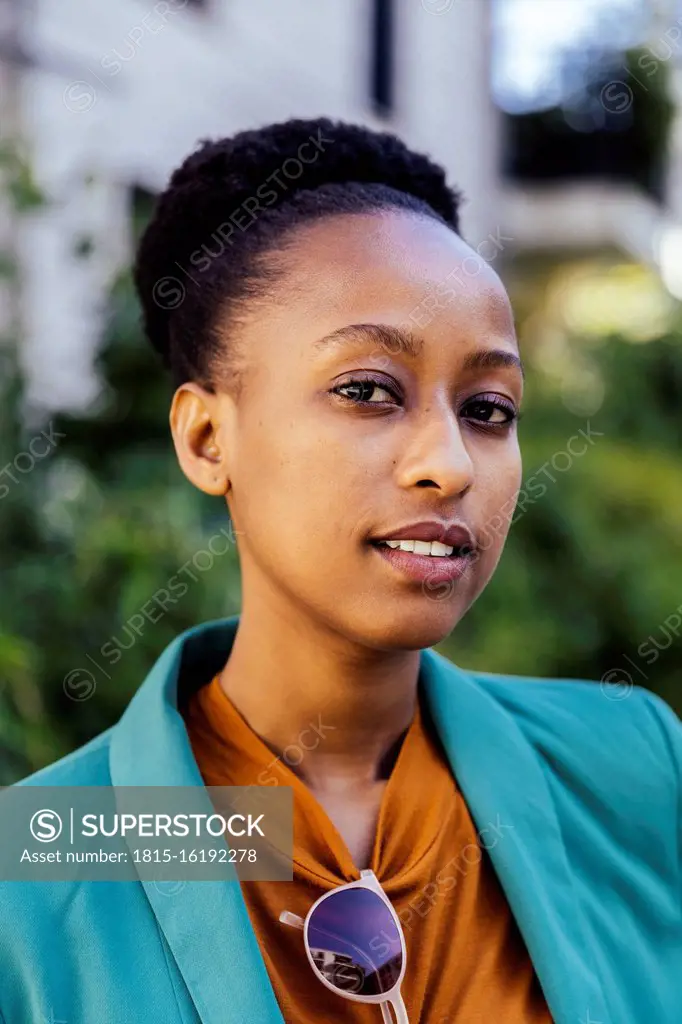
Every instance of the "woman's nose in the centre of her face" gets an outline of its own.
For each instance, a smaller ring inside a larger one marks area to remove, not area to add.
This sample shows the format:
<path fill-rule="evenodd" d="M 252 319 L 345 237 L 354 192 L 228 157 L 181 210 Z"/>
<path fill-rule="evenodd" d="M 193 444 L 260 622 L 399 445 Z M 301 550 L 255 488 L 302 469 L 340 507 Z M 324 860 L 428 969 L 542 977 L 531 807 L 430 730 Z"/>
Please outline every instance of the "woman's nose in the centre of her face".
<path fill-rule="evenodd" d="M 472 485 L 474 468 L 462 437 L 456 413 L 445 408 L 426 410 L 397 464 L 401 487 L 434 487 L 443 498 L 464 495 Z"/>

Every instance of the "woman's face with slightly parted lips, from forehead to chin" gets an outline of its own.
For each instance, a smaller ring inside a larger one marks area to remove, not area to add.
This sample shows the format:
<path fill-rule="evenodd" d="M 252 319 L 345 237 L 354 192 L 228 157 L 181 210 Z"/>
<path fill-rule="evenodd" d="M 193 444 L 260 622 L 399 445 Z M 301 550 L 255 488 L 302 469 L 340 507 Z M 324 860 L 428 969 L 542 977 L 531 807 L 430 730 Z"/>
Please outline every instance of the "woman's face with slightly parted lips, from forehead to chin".
<path fill-rule="evenodd" d="M 273 301 L 240 329 L 251 366 L 218 431 L 245 607 L 376 648 L 430 646 L 489 580 L 520 486 L 506 292 L 452 230 L 400 212 L 317 221 L 278 260 Z M 375 543 L 428 521 L 468 529 L 473 553 Z"/>

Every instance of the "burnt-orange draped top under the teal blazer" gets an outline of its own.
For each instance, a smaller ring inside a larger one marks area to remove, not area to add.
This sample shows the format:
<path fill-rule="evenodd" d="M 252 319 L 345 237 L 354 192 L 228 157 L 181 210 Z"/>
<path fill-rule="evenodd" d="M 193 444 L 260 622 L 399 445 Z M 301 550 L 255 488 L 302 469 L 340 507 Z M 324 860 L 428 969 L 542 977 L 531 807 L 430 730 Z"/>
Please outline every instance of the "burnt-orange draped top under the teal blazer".
<path fill-rule="evenodd" d="M 477 834 L 421 701 L 420 695 L 383 793 L 370 863 L 402 923 L 401 991 L 410 1024 L 551 1024 L 485 852 L 505 842 L 505 822 Z M 316 978 L 303 933 L 279 921 L 282 910 L 305 918 L 324 893 L 359 879 L 341 835 L 302 779 L 275 760 L 237 711 L 218 676 L 191 695 L 185 723 L 206 785 L 262 784 L 274 776 L 292 787 L 293 881 L 241 883 L 287 1024 L 379 1024 L 377 1005 L 337 995 Z M 283 753 L 297 764 L 305 751 L 287 755 L 292 750 Z"/>

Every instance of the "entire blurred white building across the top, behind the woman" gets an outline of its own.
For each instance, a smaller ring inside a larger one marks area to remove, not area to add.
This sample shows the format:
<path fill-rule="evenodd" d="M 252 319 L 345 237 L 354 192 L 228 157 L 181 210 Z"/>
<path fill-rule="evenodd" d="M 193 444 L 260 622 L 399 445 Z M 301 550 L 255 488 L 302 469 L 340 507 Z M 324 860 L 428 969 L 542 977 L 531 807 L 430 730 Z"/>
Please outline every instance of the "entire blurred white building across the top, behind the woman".
<path fill-rule="evenodd" d="M 97 394 L 92 357 L 131 255 L 133 188 L 161 189 L 203 137 L 289 117 L 386 128 L 430 153 L 465 193 L 473 245 L 498 231 L 516 249 L 615 245 L 663 264 L 682 293 L 679 168 L 665 212 L 625 185 L 502 180 L 499 108 L 534 89 L 549 105 L 556 53 L 589 38 L 608 4 L 624 44 L 667 40 L 679 67 L 679 0 L 0 0 L 0 123 L 20 127 L 49 201 L 18 224 L 0 210 L 0 242 L 23 269 L 5 307 L 20 313 L 30 398 Z"/>

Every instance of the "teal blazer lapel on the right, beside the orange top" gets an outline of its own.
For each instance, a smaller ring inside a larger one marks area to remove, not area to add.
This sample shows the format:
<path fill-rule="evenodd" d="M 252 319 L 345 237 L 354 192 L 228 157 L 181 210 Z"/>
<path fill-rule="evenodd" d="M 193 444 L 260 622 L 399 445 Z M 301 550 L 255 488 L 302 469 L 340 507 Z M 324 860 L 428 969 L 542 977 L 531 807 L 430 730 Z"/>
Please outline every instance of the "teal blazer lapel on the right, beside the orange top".
<path fill-rule="evenodd" d="M 485 842 L 557 1024 L 607 1024 L 590 939 L 552 797 L 514 719 L 475 680 L 432 649 L 421 680 L 458 785 Z M 482 842 L 482 841 L 481 841 Z"/>

